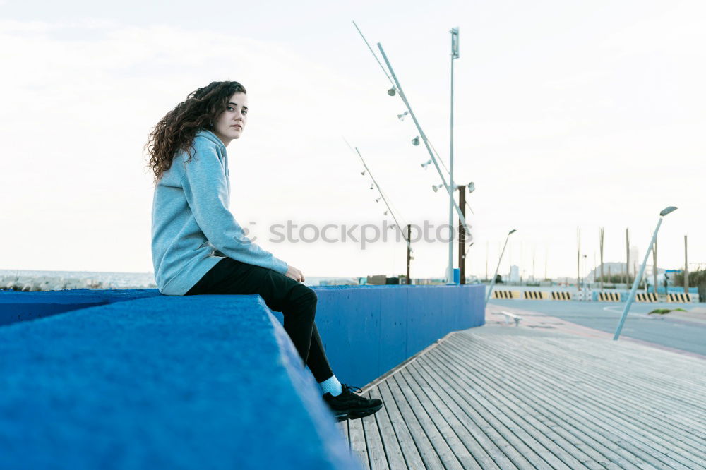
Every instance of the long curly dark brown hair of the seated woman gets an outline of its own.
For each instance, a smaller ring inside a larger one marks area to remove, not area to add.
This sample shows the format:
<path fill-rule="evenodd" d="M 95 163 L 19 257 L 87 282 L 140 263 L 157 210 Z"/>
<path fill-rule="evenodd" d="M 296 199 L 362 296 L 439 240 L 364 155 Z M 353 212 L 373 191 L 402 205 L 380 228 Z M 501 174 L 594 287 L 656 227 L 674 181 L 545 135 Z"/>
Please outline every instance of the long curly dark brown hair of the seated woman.
<path fill-rule="evenodd" d="M 145 144 L 150 155 L 148 166 L 155 174 L 155 185 L 164 171 L 172 167 L 177 152 L 184 150 L 189 153 L 189 159 L 193 157 L 192 143 L 196 133 L 213 128 L 213 121 L 225 111 L 235 92 L 245 93 L 245 87 L 232 81 L 211 82 L 189 93 L 185 101 L 160 119 Z"/>

